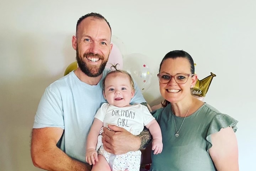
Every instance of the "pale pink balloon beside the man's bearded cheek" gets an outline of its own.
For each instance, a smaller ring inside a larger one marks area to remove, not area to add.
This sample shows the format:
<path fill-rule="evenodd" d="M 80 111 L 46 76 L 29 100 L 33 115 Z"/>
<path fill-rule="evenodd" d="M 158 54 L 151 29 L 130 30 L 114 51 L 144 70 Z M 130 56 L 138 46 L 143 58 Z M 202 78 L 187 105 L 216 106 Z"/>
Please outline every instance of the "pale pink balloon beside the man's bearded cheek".
<path fill-rule="evenodd" d="M 120 52 L 119 48 L 114 43 L 112 43 L 112 44 L 113 44 L 113 47 L 112 47 L 111 53 L 109 55 L 106 68 L 111 69 L 112 65 L 119 64 L 119 65 L 117 65 L 117 69 L 122 69 L 123 68 L 122 53 Z"/>

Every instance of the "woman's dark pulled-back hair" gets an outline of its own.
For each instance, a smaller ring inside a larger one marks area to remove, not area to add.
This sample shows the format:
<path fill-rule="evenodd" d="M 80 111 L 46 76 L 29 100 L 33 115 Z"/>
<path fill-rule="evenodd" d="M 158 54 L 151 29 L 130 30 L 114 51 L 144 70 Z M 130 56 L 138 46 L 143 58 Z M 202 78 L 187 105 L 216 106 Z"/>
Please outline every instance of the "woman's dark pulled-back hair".
<path fill-rule="evenodd" d="M 159 72 L 161 69 L 162 64 L 164 63 L 164 61 L 166 59 L 176 59 L 176 58 L 186 58 L 188 60 L 188 62 L 190 63 L 190 71 L 191 74 L 194 74 L 194 60 L 193 58 L 190 56 L 190 54 L 188 54 L 187 52 L 185 52 L 184 50 L 173 50 L 171 52 L 168 52 L 164 58 L 162 59 L 162 62 L 160 63 L 160 67 L 159 67 Z M 164 100 L 164 102 L 161 102 L 163 107 L 166 107 L 170 102 L 167 100 Z"/>

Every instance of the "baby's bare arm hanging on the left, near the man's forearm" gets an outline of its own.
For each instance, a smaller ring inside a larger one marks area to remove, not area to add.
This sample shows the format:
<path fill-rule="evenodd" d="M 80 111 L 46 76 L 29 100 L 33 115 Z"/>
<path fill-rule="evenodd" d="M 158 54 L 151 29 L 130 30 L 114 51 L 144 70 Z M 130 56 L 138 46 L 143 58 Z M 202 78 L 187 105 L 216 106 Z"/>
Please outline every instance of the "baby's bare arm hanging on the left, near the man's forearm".
<path fill-rule="evenodd" d="M 103 126 L 103 122 L 95 118 L 87 137 L 85 159 L 86 159 L 86 162 L 88 162 L 90 165 L 92 164 L 94 165 L 95 162 L 98 161 L 96 145 L 98 141 L 98 135 L 102 126 Z"/>

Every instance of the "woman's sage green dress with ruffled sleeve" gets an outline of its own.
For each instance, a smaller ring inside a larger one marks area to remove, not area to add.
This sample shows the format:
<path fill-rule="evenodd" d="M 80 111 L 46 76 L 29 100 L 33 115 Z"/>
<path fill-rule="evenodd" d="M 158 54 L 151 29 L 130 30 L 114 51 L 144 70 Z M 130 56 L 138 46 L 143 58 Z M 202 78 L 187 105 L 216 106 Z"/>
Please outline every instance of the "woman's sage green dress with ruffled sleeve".
<path fill-rule="evenodd" d="M 232 127 L 236 132 L 234 118 L 220 113 L 204 103 L 196 112 L 186 117 L 177 117 L 171 111 L 171 104 L 152 112 L 162 132 L 163 150 L 154 155 L 150 171 L 216 171 L 208 149 L 212 147 L 210 135 L 221 128 Z M 175 137 L 176 129 L 179 137 Z"/>

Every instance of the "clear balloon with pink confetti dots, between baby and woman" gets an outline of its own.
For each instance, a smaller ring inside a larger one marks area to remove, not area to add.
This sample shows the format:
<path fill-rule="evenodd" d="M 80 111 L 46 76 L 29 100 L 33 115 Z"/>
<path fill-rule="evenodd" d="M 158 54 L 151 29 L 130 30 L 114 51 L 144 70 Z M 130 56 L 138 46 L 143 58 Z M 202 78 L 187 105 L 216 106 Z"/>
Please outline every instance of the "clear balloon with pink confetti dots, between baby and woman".
<path fill-rule="evenodd" d="M 149 88 L 154 76 L 154 69 L 148 63 L 148 57 L 140 53 L 126 55 L 123 59 L 123 70 L 132 75 L 142 93 Z"/>

